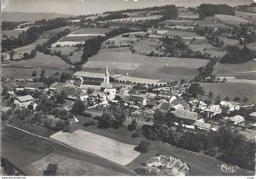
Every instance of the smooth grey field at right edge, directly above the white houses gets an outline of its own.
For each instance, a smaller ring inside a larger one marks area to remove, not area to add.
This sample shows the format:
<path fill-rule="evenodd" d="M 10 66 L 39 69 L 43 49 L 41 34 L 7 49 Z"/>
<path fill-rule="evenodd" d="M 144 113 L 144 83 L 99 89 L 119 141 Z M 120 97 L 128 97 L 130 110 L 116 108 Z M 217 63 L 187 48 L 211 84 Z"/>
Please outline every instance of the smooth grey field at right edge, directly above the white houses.
<path fill-rule="evenodd" d="M 213 96 L 221 96 L 221 99 L 224 100 L 226 96 L 229 96 L 229 99 L 232 100 L 234 97 L 238 96 L 241 99 L 247 97 L 249 101 L 247 104 L 252 104 L 256 102 L 255 90 L 256 84 L 251 83 L 202 83 L 205 95 L 208 95 L 209 91 L 212 91 Z M 205 96 L 204 99 L 207 99 Z M 214 103 L 214 99 L 212 99 Z M 241 102 L 241 104 L 244 104 Z"/>

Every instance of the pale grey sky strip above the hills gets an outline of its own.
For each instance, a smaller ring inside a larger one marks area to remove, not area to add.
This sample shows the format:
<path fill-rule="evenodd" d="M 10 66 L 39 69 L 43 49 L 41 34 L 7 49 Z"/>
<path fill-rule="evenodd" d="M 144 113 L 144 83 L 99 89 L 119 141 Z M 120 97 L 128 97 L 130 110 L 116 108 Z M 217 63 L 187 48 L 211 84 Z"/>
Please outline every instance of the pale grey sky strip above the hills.
<path fill-rule="evenodd" d="M 202 3 L 251 4 L 252 0 L 2 0 L 2 10 L 9 12 L 55 12 L 69 15 L 102 13 L 107 10 L 134 9 L 154 5 L 196 6 Z"/>

